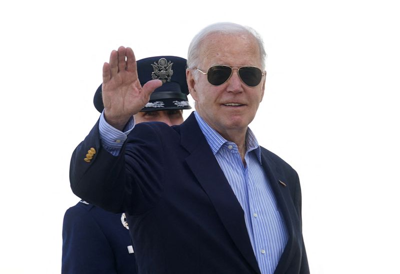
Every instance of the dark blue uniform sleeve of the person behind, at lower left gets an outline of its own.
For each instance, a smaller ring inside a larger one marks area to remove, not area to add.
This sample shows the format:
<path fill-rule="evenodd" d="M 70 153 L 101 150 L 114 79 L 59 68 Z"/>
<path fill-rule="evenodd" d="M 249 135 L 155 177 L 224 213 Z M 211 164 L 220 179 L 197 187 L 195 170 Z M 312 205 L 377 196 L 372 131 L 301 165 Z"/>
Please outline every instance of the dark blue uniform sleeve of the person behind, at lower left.
<path fill-rule="evenodd" d="M 87 211 L 69 208 L 62 225 L 61 274 L 116 274 L 113 252 Z"/>

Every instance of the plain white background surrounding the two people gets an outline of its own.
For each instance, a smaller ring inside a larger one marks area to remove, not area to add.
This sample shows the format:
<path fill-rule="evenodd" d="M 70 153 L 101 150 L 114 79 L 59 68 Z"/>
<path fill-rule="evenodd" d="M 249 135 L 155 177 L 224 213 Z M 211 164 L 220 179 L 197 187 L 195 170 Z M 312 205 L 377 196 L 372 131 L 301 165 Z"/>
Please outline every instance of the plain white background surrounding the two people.
<path fill-rule="evenodd" d="M 264 39 L 250 127 L 300 176 L 311 272 L 400 273 L 396 2 L 1 2 L 0 273 L 60 272 L 63 214 L 78 201 L 69 159 L 98 118 L 110 51 L 186 58 L 191 38 L 221 21 Z"/>

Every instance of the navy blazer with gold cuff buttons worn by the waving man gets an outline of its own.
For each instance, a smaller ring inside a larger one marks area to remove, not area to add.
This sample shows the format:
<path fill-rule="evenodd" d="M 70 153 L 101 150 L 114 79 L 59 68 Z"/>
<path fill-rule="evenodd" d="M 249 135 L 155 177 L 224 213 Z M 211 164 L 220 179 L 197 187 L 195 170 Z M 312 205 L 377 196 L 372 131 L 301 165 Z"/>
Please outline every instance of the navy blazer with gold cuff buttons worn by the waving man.
<path fill-rule="evenodd" d="M 297 173 L 264 148 L 261 160 L 289 236 L 275 273 L 309 273 Z M 70 183 L 84 200 L 127 214 L 138 273 L 260 273 L 244 212 L 193 114 L 180 126 L 137 124 L 116 157 L 96 124 L 72 154 Z"/>

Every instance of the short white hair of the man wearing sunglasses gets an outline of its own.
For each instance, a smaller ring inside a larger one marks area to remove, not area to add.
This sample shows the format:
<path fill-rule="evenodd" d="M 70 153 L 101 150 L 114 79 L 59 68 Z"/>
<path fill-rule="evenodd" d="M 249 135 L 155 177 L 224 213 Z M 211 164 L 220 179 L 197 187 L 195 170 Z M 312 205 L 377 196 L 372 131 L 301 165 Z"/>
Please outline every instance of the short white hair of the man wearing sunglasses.
<path fill-rule="evenodd" d="M 198 66 L 202 57 L 200 56 L 201 46 L 203 44 L 204 39 L 214 33 L 219 34 L 227 34 L 227 35 L 249 35 L 254 37 L 257 41 L 259 56 L 261 58 L 262 70 L 265 67 L 265 58 L 266 53 L 264 50 L 264 43 L 260 35 L 252 28 L 241 26 L 238 24 L 230 23 L 230 22 L 220 22 L 209 25 L 202 29 L 194 38 L 191 40 L 189 49 L 187 51 L 187 67 L 193 68 Z"/>

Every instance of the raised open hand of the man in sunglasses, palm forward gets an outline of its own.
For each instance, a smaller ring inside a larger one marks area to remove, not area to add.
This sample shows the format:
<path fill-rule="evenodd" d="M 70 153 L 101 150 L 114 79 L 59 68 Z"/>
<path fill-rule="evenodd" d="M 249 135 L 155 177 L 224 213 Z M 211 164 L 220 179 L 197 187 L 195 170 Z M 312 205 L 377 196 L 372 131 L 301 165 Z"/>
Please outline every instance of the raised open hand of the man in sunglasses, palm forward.
<path fill-rule="evenodd" d="M 112 51 L 109 63 L 103 65 L 102 98 L 104 118 L 112 127 L 122 130 L 129 118 L 148 102 L 160 80 L 148 81 L 141 87 L 132 49 L 119 47 Z"/>

